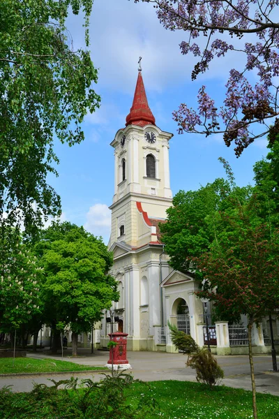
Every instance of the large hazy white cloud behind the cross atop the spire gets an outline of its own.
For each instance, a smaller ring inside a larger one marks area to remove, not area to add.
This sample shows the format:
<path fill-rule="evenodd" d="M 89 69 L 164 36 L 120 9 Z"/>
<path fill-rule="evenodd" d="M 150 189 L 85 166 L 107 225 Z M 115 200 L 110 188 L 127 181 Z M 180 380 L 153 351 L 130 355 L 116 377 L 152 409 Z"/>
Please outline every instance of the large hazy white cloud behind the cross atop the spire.
<path fill-rule="evenodd" d="M 96 0 L 90 31 L 91 56 L 100 69 L 98 85 L 130 94 L 140 56 L 149 90 L 162 91 L 176 78 L 190 75 L 189 58 L 179 50 L 183 33 L 166 31 L 151 4 Z"/>

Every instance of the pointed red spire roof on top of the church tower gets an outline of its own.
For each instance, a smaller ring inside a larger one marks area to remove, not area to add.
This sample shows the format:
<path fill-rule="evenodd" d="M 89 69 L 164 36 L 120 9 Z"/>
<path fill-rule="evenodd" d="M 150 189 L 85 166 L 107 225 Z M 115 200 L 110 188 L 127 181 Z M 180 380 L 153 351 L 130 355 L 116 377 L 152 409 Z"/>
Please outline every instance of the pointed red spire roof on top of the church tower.
<path fill-rule="evenodd" d="M 139 71 L 133 105 L 132 108 L 130 108 L 129 115 L 126 117 L 126 126 L 145 126 L 148 124 L 155 125 L 155 118 L 153 117 L 153 113 L 151 112 L 147 102 L 144 81 L 142 80 L 142 72 Z"/>

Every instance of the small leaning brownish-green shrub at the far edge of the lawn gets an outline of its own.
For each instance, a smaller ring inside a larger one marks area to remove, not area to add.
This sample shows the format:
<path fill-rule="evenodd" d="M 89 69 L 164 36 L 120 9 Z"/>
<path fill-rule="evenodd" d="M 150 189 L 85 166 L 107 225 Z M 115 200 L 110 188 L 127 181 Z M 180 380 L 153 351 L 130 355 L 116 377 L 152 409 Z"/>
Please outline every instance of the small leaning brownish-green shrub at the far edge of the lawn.
<path fill-rule="evenodd" d="M 218 385 L 224 378 L 223 369 L 207 349 L 201 349 L 193 337 L 178 330 L 176 326 L 167 323 L 171 332 L 172 343 L 179 351 L 188 354 L 186 365 L 196 370 L 197 381 L 213 387 Z"/>

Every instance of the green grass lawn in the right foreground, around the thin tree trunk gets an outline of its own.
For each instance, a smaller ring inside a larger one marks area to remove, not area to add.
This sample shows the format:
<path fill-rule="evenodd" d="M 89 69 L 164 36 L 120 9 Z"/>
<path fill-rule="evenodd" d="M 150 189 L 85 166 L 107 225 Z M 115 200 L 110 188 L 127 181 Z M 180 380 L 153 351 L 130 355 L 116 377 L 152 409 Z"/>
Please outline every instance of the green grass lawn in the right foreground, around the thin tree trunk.
<path fill-rule="evenodd" d="M 220 385 L 209 390 L 190 381 L 149 383 L 158 409 L 146 419 L 246 419 L 252 418 L 252 392 Z M 135 383 L 128 390 L 133 397 L 146 396 L 146 387 Z M 258 419 L 279 418 L 279 397 L 257 393 Z"/>

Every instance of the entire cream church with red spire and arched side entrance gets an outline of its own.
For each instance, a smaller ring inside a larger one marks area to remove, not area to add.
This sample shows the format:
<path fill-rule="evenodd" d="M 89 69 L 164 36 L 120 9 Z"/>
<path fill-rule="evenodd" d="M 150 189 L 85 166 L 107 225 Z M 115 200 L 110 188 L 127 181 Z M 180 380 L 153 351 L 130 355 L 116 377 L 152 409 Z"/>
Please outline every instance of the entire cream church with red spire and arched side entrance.
<path fill-rule="evenodd" d="M 172 205 L 169 179 L 169 140 L 172 133 L 156 126 L 149 108 L 139 68 L 133 105 L 126 127 L 116 132 L 114 148 L 114 196 L 109 249 L 114 264 L 111 274 L 119 284 L 114 316 L 104 317 L 100 346 L 106 346 L 111 323 L 128 333 L 130 351 L 174 351 L 167 321 L 190 333 L 203 345 L 202 302 L 195 296 L 198 285 L 189 273 L 169 267 L 160 223 Z"/>

